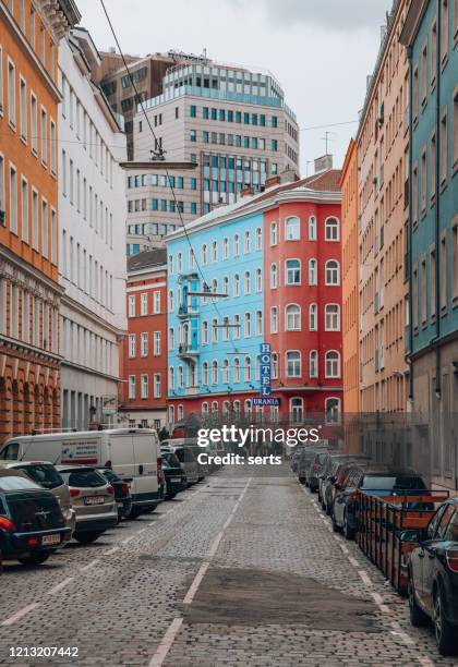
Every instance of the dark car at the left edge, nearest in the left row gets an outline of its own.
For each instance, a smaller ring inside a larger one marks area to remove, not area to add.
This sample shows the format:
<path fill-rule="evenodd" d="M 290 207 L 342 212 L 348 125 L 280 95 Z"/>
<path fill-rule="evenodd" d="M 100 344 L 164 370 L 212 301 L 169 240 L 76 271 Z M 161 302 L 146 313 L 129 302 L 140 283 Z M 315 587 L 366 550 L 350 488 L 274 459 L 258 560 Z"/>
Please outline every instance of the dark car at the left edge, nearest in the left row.
<path fill-rule="evenodd" d="M 21 470 L 0 469 L 2 559 L 40 565 L 70 538 L 56 496 Z"/>

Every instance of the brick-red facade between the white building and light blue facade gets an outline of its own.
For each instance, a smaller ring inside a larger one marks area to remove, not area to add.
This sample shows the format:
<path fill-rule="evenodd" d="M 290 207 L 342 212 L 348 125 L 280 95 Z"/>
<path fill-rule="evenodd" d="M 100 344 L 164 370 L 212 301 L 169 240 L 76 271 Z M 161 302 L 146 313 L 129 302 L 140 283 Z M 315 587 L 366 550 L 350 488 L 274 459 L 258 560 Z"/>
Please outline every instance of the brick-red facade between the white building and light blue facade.
<path fill-rule="evenodd" d="M 160 428 L 167 417 L 166 252 L 128 259 L 128 336 L 122 347 L 120 413 L 130 426 Z"/>

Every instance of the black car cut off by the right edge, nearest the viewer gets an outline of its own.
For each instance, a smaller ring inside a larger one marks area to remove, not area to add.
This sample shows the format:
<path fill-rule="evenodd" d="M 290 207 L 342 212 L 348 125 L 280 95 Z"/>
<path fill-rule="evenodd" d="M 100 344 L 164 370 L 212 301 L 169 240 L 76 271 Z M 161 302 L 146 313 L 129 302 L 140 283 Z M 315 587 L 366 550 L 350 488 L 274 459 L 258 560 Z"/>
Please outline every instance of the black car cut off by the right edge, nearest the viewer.
<path fill-rule="evenodd" d="M 458 652 L 458 498 L 437 509 L 409 561 L 412 626 L 434 623 L 441 655 Z"/>

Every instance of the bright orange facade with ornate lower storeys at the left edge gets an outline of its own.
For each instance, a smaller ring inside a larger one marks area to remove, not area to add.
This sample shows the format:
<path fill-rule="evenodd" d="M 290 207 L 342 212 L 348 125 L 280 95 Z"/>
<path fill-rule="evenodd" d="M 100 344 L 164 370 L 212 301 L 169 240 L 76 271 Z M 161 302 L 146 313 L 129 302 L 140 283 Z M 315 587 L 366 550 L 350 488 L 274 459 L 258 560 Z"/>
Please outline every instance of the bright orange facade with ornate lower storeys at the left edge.
<path fill-rule="evenodd" d="M 58 45 L 72 0 L 0 0 L 0 441 L 60 425 Z"/>

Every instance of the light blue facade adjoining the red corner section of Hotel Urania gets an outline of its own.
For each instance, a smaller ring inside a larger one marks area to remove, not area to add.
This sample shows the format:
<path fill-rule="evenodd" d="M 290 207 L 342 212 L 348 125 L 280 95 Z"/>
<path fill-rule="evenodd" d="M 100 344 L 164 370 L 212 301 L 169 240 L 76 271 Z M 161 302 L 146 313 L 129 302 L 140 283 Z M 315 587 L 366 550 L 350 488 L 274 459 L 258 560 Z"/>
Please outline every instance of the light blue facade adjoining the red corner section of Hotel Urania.
<path fill-rule="evenodd" d="M 227 208 L 237 211 L 240 205 Z M 191 225 L 188 238 L 179 230 L 167 243 L 170 423 L 221 405 L 224 412 L 224 397 L 245 411 L 257 390 L 263 215 L 236 211 L 225 222 L 215 210 Z M 208 296 L 193 295 L 206 290 Z M 212 298 L 212 292 L 227 296 Z"/>

